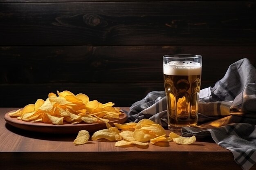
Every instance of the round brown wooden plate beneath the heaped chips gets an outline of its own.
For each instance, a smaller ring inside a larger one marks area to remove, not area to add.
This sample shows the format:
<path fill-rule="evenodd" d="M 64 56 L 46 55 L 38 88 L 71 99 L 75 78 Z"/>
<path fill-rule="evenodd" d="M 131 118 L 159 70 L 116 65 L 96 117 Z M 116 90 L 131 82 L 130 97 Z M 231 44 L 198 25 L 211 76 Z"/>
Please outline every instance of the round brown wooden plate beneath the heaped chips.
<path fill-rule="evenodd" d="M 14 112 L 12 110 L 10 112 Z M 8 112 L 8 113 L 10 113 Z M 45 124 L 43 122 L 29 122 L 29 121 L 22 121 L 18 120 L 17 117 L 10 117 L 6 113 L 4 115 L 5 121 L 16 127 L 23 130 L 29 130 L 33 132 L 43 132 L 43 133 L 55 133 L 55 134 L 71 134 L 71 133 L 78 133 L 80 130 L 87 130 L 88 132 L 96 132 L 97 130 L 105 129 L 105 123 L 93 123 L 93 124 L 86 124 L 85 122 L 81 122 L 80 124 L 70 124 L 65 123 L 63 125 L 53 125 L 53 124 Z M 113 125 L 113 123 L 122 124 L 127 120 L 127 115 L 122 113 L 119 115 L 119 119 L 110 119 L 109 123 Z"/>

